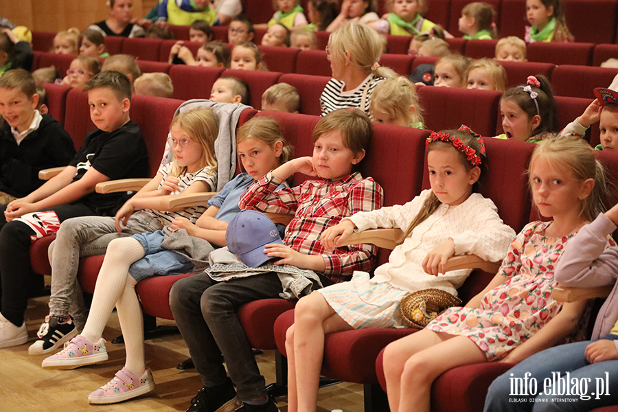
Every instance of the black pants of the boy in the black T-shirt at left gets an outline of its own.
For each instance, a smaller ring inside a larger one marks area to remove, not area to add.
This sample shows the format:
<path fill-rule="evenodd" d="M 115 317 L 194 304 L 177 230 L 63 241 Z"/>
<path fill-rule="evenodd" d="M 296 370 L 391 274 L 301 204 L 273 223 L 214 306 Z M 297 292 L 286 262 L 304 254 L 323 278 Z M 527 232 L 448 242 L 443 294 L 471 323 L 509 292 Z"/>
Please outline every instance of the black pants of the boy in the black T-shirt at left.
<path fill-rule="evenodd" d="M 0 312 L 14 325 L 21 326 L 28 304 L 28 284 L 33 276 L 30 265 L 30 236 L 34 231 L 23 222 L 7 222 L 4 217 L 5 209 L 6 205 L 0 206 Z M 82 203 L 60 205 L 46 210 L 55 211 L 60 222 L 93 214 L 93 211 Z"/>

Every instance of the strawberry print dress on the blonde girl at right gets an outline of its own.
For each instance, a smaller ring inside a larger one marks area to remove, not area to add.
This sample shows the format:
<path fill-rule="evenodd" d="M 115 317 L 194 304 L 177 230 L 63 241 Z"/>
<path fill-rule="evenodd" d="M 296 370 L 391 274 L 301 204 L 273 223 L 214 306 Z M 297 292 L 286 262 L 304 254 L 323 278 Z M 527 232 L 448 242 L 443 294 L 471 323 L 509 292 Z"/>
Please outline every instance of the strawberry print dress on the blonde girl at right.
<path fill-rule="evenodd" d="M 553 270 L 575 233 L 548 238 L 550 223 L 531 222 L 517 235 L 498 271 L 508 280 L 490 290 L 480 308 L 450 308 L 426 329 L 468 336 L 488 361 L 497 361 L 551 321 L 562 308 L 550 296 L 558 283 Z"/>

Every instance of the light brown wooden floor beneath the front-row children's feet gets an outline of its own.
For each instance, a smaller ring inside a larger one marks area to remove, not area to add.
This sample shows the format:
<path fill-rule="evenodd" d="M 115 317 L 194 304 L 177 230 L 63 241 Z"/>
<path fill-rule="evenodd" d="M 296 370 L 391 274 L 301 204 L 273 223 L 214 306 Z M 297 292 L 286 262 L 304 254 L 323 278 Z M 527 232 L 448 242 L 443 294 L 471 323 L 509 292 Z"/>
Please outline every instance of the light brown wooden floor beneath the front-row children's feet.
<path fill-rule="evenodd" d="M 152 369 L 157 387 L 154 393 L 111 405 L 89 405 L 88 395 L 113 378 L 124 366 L 124 345 L 107 343 L 109 360 L 70 371 L 48 371 L 41 368 L 45 356 L 28 355 L 28 346 L 36 337 L 36 330 L 47 314 L 49 297 L 30 300 L 26 321 L 30 341 L 27 345 L 0 349 L 0 412 L 76 412 L 76 411 L 185 411 L 201 387 L 194 369 L 180 371 L 176 365 L 189 352 L 180 335 L 146 341 L 146 365 Z M 165 324 L 165 321 L 161 322 Z M 170 324 L 170 322 L 168 322 Z M 115 312 L 104 331 L 110 341 L 119 335 Z M 266 351 L 258 356 L 260 371 L 266 383 L 275 381 L 275 356 Z M 344 412 L 363 411 L 361 385 L 342 383 L 320 389 L 319 412 L 343 409 Z M 286 398 L 277 399 L 282 412 L 287 411 Z"/>

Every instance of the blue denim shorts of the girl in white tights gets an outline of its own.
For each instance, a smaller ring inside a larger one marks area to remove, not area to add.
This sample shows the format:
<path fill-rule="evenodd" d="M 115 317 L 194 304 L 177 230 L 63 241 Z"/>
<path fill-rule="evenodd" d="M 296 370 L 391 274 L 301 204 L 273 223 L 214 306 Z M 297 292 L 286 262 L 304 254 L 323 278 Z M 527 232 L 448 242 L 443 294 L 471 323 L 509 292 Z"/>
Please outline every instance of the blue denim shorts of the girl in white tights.
<path fill-rule="evenodd" d="M 178 275 L 193 271 L 194 265 L 185 255 L 161 248 L 163 231 L 146 232 L 131 237 L 137 239 L 144 247 L 144 258 L 129 266 L 129 274 L 136 282 L 149 277 Z"/>

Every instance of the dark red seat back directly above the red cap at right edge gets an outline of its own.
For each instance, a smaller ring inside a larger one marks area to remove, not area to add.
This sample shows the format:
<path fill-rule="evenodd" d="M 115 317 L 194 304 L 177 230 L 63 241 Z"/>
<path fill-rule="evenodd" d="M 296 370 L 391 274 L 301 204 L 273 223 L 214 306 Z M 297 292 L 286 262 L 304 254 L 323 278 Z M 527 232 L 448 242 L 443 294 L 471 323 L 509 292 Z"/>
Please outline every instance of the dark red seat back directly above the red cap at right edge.
<path fill-rule="evenodd" d="M 596 87 L 609 87 L 618 69 L 560 65 L 551 74 L 553 94 L 571 98 L 593 98 Z"/>

